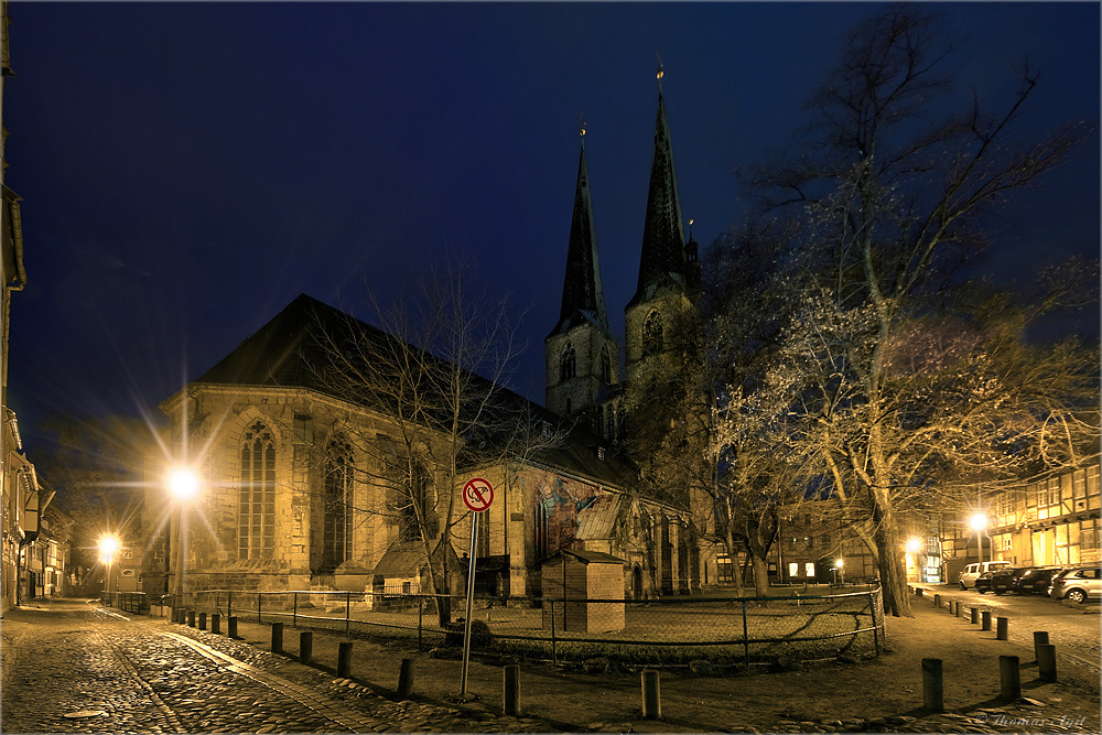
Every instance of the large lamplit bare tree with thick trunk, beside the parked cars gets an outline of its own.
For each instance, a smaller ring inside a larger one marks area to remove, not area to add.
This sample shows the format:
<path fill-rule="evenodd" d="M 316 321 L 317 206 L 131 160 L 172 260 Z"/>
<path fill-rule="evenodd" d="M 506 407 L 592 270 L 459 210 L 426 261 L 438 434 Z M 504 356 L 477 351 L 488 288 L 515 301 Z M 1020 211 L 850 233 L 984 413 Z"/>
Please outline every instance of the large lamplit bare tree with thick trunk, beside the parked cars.
<path fill-rule="evenodd" d="M 904 615 L 898 511 L 938 491 L 932 483 L 944 474 L 931 474 L 936 463 L 991 467 L 1000 452 L 1013 454 L 1012 435 L 1020 442 L 1029 433 L 1009 431 L 1006 413 L 990 412 L 990 386 L 975 382 L 996 379 L 991 350 L 1001 345 L 998 355 L 1009 357 L 1013 341 L 955 332 L 933 317 L 959 293 L 957 268 L 983 252 L 982 215 L 1060 164 L 1085 134 L 1076 125 L 1017 139 L 1039 79 L 1028 68 L 1002 112 L 988 115 L 976 100 L 932 120 L 932 101 L 950 88 L 942 69 L 952 46 L 943 39 L 937 19 L 914 6 L 863 23 L 811 102 L 810 144 L 750 181 L 773 214 L 795 209 L 789 216 L 803 225 L 806 262 L 819 279 L 791 333 L 790 347 L 800 345 L 802 356 L 790 350 L 782 368 L 804 371 L 790 377 L 814 385 L 799 392 L 807 446 L 822 450 L 840 500 L 867 507 L 864 530 L 878 550 L 886 607 Z M 920 364 L 908 364 L 906 356 L 920 354 Z M 1011 361 L 1019 372 L 1048 364 L 1040 355 L 1028 365 Z M 1012 398 L 1008 383 L 1002 390 L 1007 401 L 1026 400 Z M 1071 397 L 1052 398 L 1048 409 L 1066 414 Z M 1024 408 L 1018 420 L 1026 414 L 1050 423 Z M 993 433 L 981 446 L 984 422 Z M 959 426 L 976 431 L 965 439 Z M 1031 439 L 1041 441 L 1036 432 Z"/>

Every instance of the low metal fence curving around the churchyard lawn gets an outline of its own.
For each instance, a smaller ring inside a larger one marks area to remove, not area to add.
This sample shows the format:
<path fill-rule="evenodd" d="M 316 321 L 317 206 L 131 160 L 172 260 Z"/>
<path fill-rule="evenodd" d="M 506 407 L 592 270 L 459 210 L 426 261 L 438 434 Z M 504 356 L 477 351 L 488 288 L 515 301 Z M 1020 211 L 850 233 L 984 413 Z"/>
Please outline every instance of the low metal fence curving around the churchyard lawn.
<path fill-rule="evenodd" d="M 880 595 L 877 587 L 831 595 L 646 602 L 531 598 L 506 605 L 497 597 L 476 597 L 472 648 L 555 663 L 604 656 L 648 666 L 687 666 L 705 659 L 747 669 L 786 659 L 879 655 Z M 404 639 L 422 650 L 462 645 L 462 626 L 442 627 L 437 607 L 450 604 L 450 617 L 461 619 L 465 606 L 460 596 L 231 590 L 186 593 L 180 605 L 171 596 L 160 602 L 256 623 Z M 118 604 L 136 605 L 125 598 Z"/>

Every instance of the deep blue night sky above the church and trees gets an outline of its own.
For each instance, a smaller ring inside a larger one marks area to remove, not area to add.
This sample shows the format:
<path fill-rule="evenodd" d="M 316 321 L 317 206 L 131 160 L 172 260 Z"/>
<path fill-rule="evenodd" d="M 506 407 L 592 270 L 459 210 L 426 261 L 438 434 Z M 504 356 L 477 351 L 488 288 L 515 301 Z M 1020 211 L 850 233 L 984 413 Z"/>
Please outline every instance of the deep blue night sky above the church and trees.
<path fill-rule="evenodd" d="M 9 402 L 37 422 L 152 409 L 300 292 L 368 316 L 445 247 L 534 300 L 515 386 L 543 398 L 586 154 L 609 321 L 634 292 L 656 51 L 684 218 L 739 221 L 732 170 L 787 145 L 877 3 L 10 4 L 4 182 L 26 289 Z M 1099 4 L 951 3 L 966 101 L 1041 72 L 1031 123 L 1099 117 Z M 1006 213 L 988 264 L 1023 278 L 1099 250 L 1099 145 Z M 1098 337 L 1098 315 L 1081 331 Z"/>

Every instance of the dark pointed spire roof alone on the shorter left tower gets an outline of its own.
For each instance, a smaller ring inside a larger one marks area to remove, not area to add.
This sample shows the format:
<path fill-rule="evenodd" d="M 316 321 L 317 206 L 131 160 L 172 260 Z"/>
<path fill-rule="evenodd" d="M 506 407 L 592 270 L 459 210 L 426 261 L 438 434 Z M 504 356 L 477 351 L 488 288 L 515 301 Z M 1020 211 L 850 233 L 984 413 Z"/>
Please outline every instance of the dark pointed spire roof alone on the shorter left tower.
<path fill-rule="evenodd" d="M 584 120 L 581 138 L 582 151 L 577 162 L 574 215 L 570 223 L 570 244 L 566 248 L 562 307 L 559 311 L 559 323 L 551 334 L 565 334 L 585 322 L 593 323 L 602 332 L 608 333 L 605 294 L 601 285 L 601 266 L 597 261 L 597 239 L 593 227 L 593 205 L 590 202 L 590 182 L 585 166 Z"/>

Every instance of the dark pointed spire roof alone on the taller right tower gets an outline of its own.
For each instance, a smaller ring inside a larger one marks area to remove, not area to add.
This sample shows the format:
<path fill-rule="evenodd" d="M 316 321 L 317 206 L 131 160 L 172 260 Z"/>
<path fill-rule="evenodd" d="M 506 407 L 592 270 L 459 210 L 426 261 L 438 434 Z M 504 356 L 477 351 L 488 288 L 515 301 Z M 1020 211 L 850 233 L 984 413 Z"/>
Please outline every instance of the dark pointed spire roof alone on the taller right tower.
<path fill-rule="evenodd" d="M 665 285 L 684 287 L 685 241 L 681 225 L 681 204 L 673 173 L 670 127 L 662 99 L 663 69 L 658 66 L 658 119 L 655 123 L 655 158 L 650 165 L 650 192 L 647 219 L 642 229 L 642 257 L 639 283 L 628 306 L 651 299 Z"/>

